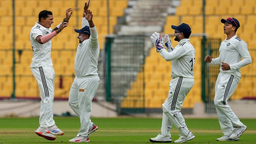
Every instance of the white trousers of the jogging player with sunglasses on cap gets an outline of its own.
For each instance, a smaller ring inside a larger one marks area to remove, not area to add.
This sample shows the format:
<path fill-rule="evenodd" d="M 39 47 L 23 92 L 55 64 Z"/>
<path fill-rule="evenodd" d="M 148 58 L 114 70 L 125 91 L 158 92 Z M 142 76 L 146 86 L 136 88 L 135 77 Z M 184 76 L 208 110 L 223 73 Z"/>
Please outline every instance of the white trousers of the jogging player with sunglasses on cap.
<path fill-rule="evenodd" d="M 233 126 L 243 126 L 227 102 L 237 85 L 238 82 L 234 76 L 226 73 L 219 73 L 215 84 L 214 104 L 219 117 L 220 128 L 225 136 L 230 136 L 233 133 Z"/>

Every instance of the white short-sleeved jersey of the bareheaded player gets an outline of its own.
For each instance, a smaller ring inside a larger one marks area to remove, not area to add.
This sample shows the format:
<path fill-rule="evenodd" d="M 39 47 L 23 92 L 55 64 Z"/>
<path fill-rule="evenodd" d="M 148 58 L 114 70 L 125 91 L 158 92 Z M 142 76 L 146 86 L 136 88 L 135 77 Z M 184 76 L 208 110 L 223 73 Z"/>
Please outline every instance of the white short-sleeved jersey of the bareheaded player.
<path fill-rule="evenodd" d="M 51 28 L 46 28 L 38 22 L 32 27 L 30 31 L 30 42 L 33 49 L 33 58 L 30 67 L 52 66 L 51 59 L 52 40 L 40 44 L 36 41 L 37 36 L 45 36 L 52 33 Z"/>

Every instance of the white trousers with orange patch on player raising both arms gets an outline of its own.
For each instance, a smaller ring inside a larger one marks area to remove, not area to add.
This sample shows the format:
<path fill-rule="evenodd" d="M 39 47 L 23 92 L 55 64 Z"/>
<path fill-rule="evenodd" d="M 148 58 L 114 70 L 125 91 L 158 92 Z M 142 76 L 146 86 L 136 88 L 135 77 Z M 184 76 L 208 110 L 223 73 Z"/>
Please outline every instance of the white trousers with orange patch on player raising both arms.
<path fill-rule="evenodd" d="M 87 136 L 90 120 L 92 100 L 99 86 L 99 76 L 76 77 L 71 86 L 68 104 L 80 117 L 80 129 L 77 136 Z"/>

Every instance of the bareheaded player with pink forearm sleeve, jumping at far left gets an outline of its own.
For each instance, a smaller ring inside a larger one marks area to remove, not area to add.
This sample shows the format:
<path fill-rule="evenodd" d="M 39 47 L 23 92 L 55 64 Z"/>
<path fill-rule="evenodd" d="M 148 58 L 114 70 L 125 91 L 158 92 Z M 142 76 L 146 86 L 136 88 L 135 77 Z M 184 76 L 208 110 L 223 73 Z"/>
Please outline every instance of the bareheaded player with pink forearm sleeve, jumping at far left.
<path fill-rule="evenodd" d="M 58 35 L 68 24 L 73 11 L 66 11 L 66 18 L 53 30 L 53 13 L 43 10 L 38 15 L 38 22 L 30 31 L 30 41 L 33 50 L 31 71 L 37 80 L 41 92 L 41 107 L 39 127 L 35 133 L 47 140 L 55 140 L 54 135 L 64 135 L 53 120 L 54 79 L 55 71 L 51 59 L 52 38 Z"/>

